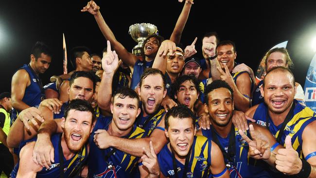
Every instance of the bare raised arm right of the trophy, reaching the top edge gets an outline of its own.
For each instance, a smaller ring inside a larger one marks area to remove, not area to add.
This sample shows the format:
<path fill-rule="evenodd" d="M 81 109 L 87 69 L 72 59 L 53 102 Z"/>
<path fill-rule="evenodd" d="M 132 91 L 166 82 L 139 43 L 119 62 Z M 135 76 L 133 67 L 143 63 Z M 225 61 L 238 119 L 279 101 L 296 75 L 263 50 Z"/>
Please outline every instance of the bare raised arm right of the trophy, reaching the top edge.
<path fill-rule="evenodd" d="M 181 14 L 180 14 L 178 20 L 176 21 L 175 29 L 170 36 L 171 41 L 173 41 L 175 43 L 180 42 L 181 35 L 183 32 L 184 26 L 187 23 L 192 4 L 193 4 L 193 0 L 186 0 L 186 2 L 184 3 Z"/>

